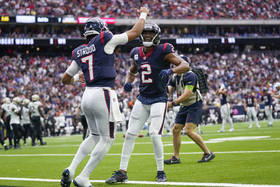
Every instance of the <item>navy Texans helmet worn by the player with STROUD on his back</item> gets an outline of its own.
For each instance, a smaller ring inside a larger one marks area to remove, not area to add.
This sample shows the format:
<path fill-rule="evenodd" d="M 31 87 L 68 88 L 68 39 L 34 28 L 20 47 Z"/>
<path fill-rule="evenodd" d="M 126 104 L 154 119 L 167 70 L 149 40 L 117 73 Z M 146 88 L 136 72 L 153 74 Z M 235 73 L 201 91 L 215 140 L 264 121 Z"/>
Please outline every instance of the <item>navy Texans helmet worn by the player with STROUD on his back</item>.
<path fill-rule="evenodd" d="M 91 34 L 100 34 L 104 30 L 109 30 L 108 25 L 104 20 L 98 17 L 90 18 L 85 22 L 84 36 L 87 37 Z"/>

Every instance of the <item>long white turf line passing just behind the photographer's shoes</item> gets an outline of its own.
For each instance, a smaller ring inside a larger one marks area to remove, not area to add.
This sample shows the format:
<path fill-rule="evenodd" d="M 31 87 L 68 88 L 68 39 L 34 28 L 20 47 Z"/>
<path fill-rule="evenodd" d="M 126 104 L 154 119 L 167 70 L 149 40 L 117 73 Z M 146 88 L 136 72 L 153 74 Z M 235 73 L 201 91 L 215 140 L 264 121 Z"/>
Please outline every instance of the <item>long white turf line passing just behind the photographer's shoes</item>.
<path fill-rule="evenodd" d="M 214 152 L 216 153 L 268 153 L 268 152 L 280 152 L 280 150 L 271 151 L 224 151 Z M 154 155 L 155 153 L 132 153 L 131 155 Z M 172 155 L 173 153 L 163 153 L 164 155 Z M 202 152 L 180 153 L 180 154 L 203 154 Z M 76 154 L 21 154 L 21 155 L 0 155 L 0 157 L 13 157 L 13 156 L 75 156 Z M 90 154 L 88 154 L 90 155 Z M 122 155 L 121 153 L 107 154 L 107 155 Z"/>

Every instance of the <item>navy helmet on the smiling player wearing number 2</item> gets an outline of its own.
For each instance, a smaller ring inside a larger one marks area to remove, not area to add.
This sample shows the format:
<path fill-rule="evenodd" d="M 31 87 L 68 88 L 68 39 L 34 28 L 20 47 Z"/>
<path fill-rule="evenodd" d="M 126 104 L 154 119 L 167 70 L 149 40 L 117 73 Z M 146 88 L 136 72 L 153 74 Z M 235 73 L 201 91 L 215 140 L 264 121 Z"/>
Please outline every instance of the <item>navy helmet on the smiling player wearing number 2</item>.
<path fill-rule="evenodd" d="M 152 31 L 154 32 L 154 34 L 144 34 L 146 31 Z M 150 35 L 152 39 L 146 41 L 143 37 L 144 35 Z M 143 44 L 146 47 L 150 47 L 152 45 L 157 46 L 160 43 L 160 37 L 161 37 L 160 27 L 153 22 L 146 22 L 142 34 L 140 34 L 139 37 L 140 44 Z"/>

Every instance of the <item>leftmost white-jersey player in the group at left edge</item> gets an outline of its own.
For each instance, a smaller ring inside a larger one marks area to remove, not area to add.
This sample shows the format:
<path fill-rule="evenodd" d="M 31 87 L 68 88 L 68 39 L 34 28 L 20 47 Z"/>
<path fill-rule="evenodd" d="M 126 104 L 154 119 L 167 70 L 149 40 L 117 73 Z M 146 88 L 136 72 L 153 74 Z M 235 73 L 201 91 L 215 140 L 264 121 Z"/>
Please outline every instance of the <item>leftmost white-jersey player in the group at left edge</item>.
<path fill-rule="evenodd" d="M 10 109 L 10 103 L 11 100 L 8 97 L 3 98 L 3 104 L 1 105 L 1 118 L 4 120 L 4 125 L 6 127 L 6 137 L 9 138 L 10 146 L 9 148 L 13 147 L 12 138 L 13 138 L 13 127 L 10 125 L 11 120 L 11 109 Z"/>

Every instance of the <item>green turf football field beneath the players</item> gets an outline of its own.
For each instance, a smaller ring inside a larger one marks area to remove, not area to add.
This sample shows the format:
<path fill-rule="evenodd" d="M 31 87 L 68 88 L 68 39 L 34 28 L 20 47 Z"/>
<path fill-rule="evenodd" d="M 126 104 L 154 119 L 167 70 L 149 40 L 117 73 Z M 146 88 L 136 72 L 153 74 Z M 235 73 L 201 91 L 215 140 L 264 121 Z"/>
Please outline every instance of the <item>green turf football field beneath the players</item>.
<path fill-rule="evenodd" d="M 182 136 L 182 163 L 164 165 L 169 182 L 165 183 L 166 185 L 156 185 L 157 166 L 150 137 L 137 138 L 127 169 L 128 180 L 131 183 L 115 186 L 280 186 L 280 121 L 274 121 L 273 127 L 267 127 L 265 121 L 261 121 L 260 125 L 261 128 L 253 124 L 253 128 L 248 129 L 248 122 L 234 123 L 234 132 L 223 133 L 217 132 L 221 125 L 201 127 L 205 133 L 201 135 L 202 138 L 208 148 L 216 154 L 213 160 L 206 163 L 197 163 L 203 156 L 202 150 L 188 136 Z M 229 129 L 229 124 L 226 129 Z M 146 131 L 141 133 L 145 135 Z M 60 186 L 62 171 L 70 165 L 82 142 L 82 135 L 43 140 L 47 142 L 47 146 L 31 147 L 29 140 L 28 146 L 23 146 L 21 142 L 20 150 L 0 150 L 0 186 Z M 162 141 L 164 159 L 169 159 L 173 155 L 172 137 L 162 137 Z M 108 155 L 90 175 L 90 180 L 96 180 L 92 182 L 93 186 L 108 186 L 103 181 L 112 176 L 111 171 L 119 169 L 123 142 L 122 134 L 117 133 Z M 78 166 L 75 176 L 82 171 L 89 158 L 90 156 L 87 156 Z M 148 182 L 143 184 L 143 181 Z M 73 183 L 71 186 L 74 186 Z"/>

